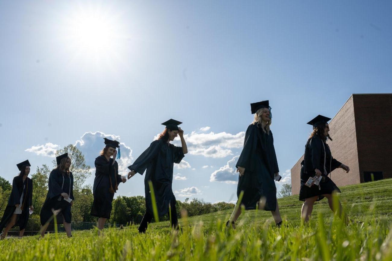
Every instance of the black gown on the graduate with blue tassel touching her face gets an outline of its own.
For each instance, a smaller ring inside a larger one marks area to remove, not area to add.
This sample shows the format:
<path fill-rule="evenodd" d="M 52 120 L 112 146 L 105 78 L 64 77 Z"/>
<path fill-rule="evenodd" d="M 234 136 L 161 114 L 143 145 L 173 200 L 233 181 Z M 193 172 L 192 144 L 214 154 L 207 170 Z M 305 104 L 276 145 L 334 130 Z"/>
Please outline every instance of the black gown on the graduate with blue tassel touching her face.
<path fill-rule="evenodd" d="M 99 156 L 95 159 L 94 202 L 91 207 L 92 216 L 110 218 L 114 197 L 114 193 L 109 191 L 111 186 L 110 182 L 112 181 L 113 189 L 122 182 L 121 175 L 118 174 L 117 162 L 112 163 L 113 158 L 107 161 L 105 156 Z"/>

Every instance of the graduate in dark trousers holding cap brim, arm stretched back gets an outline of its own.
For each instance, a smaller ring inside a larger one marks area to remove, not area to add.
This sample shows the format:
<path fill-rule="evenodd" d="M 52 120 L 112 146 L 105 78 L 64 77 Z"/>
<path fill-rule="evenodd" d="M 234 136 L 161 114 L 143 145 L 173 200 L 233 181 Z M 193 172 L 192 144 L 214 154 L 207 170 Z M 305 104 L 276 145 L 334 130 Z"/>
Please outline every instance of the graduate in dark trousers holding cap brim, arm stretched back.
<path fill-rule="evenodd" d="M 165 130 L 163 130 L 158 139 L 151 142 L 149 148 L 147 148 L 142 155 L 128 167 L 131 170 L 128 173 L 128 179 L 136 173 L 143 175 L 144 171 L 147 169 L 144 178 L 146 212 L 140 223 L 138 229 L 139 233 L 145 232 L 148 223 L 151 222 L 154 215 L 149 187 L 150 180 L 154 188 L 158 216 L 169 214 L 169 218 L 171 216 L 172 229 L 178 229 L 176 198 L 174 197 L 172 190 L 173 164 L 180 163 L 184 155 L 188 153 L 187 144 L 183 137 L 184 131 L 178 127 L 181 123 L 182 122 L 173 119 L 163 122 L 162 125 L 165 126 Z M 181 147 L 174 146 L 170 143 L 177 135 L 180 136 Z"/>

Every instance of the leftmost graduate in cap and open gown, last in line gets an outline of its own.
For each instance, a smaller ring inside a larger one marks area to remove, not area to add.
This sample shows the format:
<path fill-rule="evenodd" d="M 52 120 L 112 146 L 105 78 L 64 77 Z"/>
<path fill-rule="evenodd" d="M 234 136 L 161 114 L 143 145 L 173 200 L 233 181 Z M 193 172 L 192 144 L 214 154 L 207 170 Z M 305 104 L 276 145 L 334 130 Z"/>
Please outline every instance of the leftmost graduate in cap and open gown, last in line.
<path fill-rule="evenodd" d="M 33 182 L 27 177 L 30 173 L 30 162 L 29 160 L 25 160 L 16 164 L 16 166 L 20 173 L 12 181 L 11 194 L 9 195 L 8 204 L 0 222 L 0 231 L 5 228 L 4 232 L 0 234 L 0 239 L 4 239 L 8 231 L 16 226 L 19 227 L 19 237 L 21 238 L 24 234 L 27 220 L 29 220 L 29 212 L 34 210 L 31 203 L 31 199 L 33 198 Z"/>

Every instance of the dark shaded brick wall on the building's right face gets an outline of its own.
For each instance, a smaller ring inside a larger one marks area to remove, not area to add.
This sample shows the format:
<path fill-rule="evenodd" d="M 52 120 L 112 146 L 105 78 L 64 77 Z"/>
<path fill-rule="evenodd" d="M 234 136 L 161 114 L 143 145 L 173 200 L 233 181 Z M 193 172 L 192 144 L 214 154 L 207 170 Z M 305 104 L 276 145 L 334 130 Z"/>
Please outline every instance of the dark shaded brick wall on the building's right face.
<path fill-rule="evenodd" d="M 353 94 L 361 182 L 363 171 L 392 178 L 392 94 Z"/>

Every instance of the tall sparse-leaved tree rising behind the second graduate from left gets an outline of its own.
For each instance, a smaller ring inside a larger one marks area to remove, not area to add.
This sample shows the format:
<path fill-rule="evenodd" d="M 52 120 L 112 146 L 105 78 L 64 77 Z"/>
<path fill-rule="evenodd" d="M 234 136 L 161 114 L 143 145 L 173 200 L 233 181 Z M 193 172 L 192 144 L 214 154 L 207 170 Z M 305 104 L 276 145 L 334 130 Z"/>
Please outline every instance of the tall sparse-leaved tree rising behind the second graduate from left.
<path fill-rule="evenodd" d="M 76 146 L 69 144 L 63 149 L 57 150 L 55 156 L 57 157 L 64 153 L 68 153 L 68 157 L 71 158 L 70 171 L 74 177 L 74 191 L 81 191 L 84 182 L 91 175 L 90 166 L 86 165 L 82 151 L 76 148 Z M 53 160 L 53 167 L 57 167 L 56 159 Z"/>

